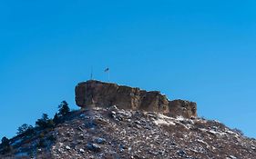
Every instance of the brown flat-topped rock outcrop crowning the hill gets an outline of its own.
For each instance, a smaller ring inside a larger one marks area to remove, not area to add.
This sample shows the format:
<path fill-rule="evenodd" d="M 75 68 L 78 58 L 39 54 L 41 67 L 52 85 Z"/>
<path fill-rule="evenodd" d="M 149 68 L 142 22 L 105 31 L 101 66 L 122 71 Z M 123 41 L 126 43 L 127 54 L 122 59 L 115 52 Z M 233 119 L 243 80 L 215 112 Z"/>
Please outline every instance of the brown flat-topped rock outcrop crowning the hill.
<path fill-rule="evenodd" d="M 117 105 L 119 109 L 157 112 L 169 116 L 197 116 L 196 103 L 184 100 L 169 101 L 157 91 L 147 92 L 139 88 L 94 80 L 77 84 L 76 103 L 82 108 L 107 108 Z"/>

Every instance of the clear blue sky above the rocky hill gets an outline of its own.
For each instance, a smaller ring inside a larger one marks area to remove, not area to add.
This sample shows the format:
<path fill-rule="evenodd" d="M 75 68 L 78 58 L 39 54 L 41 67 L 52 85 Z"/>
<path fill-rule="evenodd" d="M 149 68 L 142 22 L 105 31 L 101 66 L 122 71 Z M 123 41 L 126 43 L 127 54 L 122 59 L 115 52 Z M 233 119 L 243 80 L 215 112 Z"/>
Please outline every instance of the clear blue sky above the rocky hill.
<path fill-rule="evenodd" d="M 256 1 L 0 1 L 0 136 L 89 78 L 198 103 L 256 137 Z"/>

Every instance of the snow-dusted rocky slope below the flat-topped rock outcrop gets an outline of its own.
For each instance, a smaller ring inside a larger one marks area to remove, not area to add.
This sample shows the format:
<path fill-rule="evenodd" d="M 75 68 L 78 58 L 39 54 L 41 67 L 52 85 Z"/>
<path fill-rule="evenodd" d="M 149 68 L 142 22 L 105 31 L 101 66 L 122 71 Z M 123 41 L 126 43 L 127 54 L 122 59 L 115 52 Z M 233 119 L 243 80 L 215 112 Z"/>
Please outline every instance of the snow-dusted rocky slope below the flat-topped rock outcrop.
<path fill-rule="evenodd" d="M 54 140 L 53 140 L 54 139 Z M 39 141 L 45 143 L 38 148 Z M 0 158 L 189 158 L 253 159 L 256 140 L 217 121 L 176 118 L 116 106 L 79 110 L 63 124 L 15 138 Z"/>

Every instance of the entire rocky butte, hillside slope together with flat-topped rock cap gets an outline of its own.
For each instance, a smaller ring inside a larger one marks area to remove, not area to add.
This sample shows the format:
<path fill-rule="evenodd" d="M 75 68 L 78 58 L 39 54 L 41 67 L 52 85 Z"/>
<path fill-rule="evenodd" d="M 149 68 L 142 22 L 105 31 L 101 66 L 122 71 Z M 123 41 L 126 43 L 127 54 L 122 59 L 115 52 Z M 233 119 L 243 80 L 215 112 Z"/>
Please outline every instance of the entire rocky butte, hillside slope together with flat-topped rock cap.
<path fill-rule="evenodd" d="M 198 117 L 193 102 L 99 81 L 77 84 L 76 101 L 82 109 L 2 142 L 0 159 L 256 158 L 255 139 Z"/>

